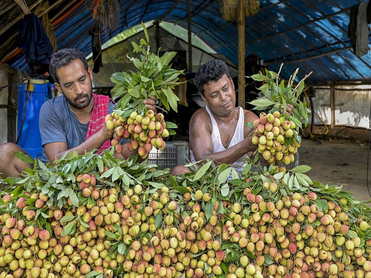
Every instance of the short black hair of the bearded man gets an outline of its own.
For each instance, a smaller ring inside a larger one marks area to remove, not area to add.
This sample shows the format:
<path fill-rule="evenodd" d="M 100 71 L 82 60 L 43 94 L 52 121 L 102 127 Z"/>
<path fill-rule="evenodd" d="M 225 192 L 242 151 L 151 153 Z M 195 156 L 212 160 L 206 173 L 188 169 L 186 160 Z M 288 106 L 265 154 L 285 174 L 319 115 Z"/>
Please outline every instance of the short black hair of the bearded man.
<path fill-rule="evenodd" d="M 59 83 L 57 70 L 61 67 L 67 66 L 76 59 L 80 59 L 85 70 L 88 71 L 88 61 L 86 60 L 85 55 L 75 48 L 63 48 L 50 56 L 49 72 L 55 82 Z"/>

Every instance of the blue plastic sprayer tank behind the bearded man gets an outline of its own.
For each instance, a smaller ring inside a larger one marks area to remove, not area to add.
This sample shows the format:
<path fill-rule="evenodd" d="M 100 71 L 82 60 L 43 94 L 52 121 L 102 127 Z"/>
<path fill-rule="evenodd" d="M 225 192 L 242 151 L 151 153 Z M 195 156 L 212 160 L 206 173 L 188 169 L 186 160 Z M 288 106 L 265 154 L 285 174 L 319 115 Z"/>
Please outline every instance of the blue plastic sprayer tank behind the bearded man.
<path fill-rule="evenodd" d="M 28 87 L 27 87 L 28 86 Z M 40 108 L 43 103 L 52 97 L 54 85 L 40 79 L 32 79 L 27 85 L 27 81 L 18 85 L 18 116 L 17 116 L 17 136 L 22 126 L 24 106 L 27 109 L 22 133 L 18 145 L 26 150 L 32 158 L 42 157 L 41 136 L 39 130 Z"/>

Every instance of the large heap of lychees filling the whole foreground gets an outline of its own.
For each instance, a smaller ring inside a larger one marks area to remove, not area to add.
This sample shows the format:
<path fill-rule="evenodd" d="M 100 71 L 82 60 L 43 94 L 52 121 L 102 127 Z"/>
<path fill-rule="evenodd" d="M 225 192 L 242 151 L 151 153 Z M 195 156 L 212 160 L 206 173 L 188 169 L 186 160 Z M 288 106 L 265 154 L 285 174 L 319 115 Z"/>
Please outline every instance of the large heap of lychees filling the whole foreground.
<path fill-rule="evenodd" d="M 124 189 L 101 178 L 108 170 L 74 177 L 78 207 L 47 206 L 42 183 L 4 195 L 0 278 L 371 277 L 370 213 L 351 214 L 339 191 L 283 196 L 280 181 L 249 178 L 226 200 L 214 179 Z"/>

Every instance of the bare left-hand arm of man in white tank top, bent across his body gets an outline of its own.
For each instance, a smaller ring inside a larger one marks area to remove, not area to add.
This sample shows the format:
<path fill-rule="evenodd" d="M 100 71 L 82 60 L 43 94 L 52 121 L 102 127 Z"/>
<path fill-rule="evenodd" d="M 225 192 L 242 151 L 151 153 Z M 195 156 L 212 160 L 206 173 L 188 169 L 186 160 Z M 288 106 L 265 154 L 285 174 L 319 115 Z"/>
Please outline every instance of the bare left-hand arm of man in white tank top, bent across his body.
<path fill-rule="evenodd" d="M 226 150 L 213 153 L 210 128 L 201 113 L 195 114 L 191 119 L 190 138 L 194 159 L 198 161 L 209 158 L 214 160 L 216 165 L 233 164 L 247 152 L 256 150 L 256 145 L 253 145 L 251 137 L 248 137 Z M 205 162 L 203 161 L 203 163 Z"/>

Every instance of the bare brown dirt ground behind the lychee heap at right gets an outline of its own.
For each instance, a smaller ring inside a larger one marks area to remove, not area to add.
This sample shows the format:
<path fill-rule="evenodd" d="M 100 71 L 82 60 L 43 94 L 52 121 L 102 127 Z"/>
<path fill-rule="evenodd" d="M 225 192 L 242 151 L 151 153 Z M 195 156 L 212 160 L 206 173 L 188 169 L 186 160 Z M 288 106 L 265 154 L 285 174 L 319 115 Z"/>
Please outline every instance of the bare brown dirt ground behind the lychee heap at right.
<path fill-rule="evenodd" d="M 368 130 L 367 130 L 368 137 Z M 365 142 L 365 139 L 359 140 Z M 322 143 L 303 139 L 299 148 L 299 163 L 311 166 L 308 176 L 323 184 L 343 185 L 356 199 L 367 200 L 367 143 L 353 140 L 332 139 Z M 371 152 L 369 156 L 368 183 L 371 192 Z"/>

